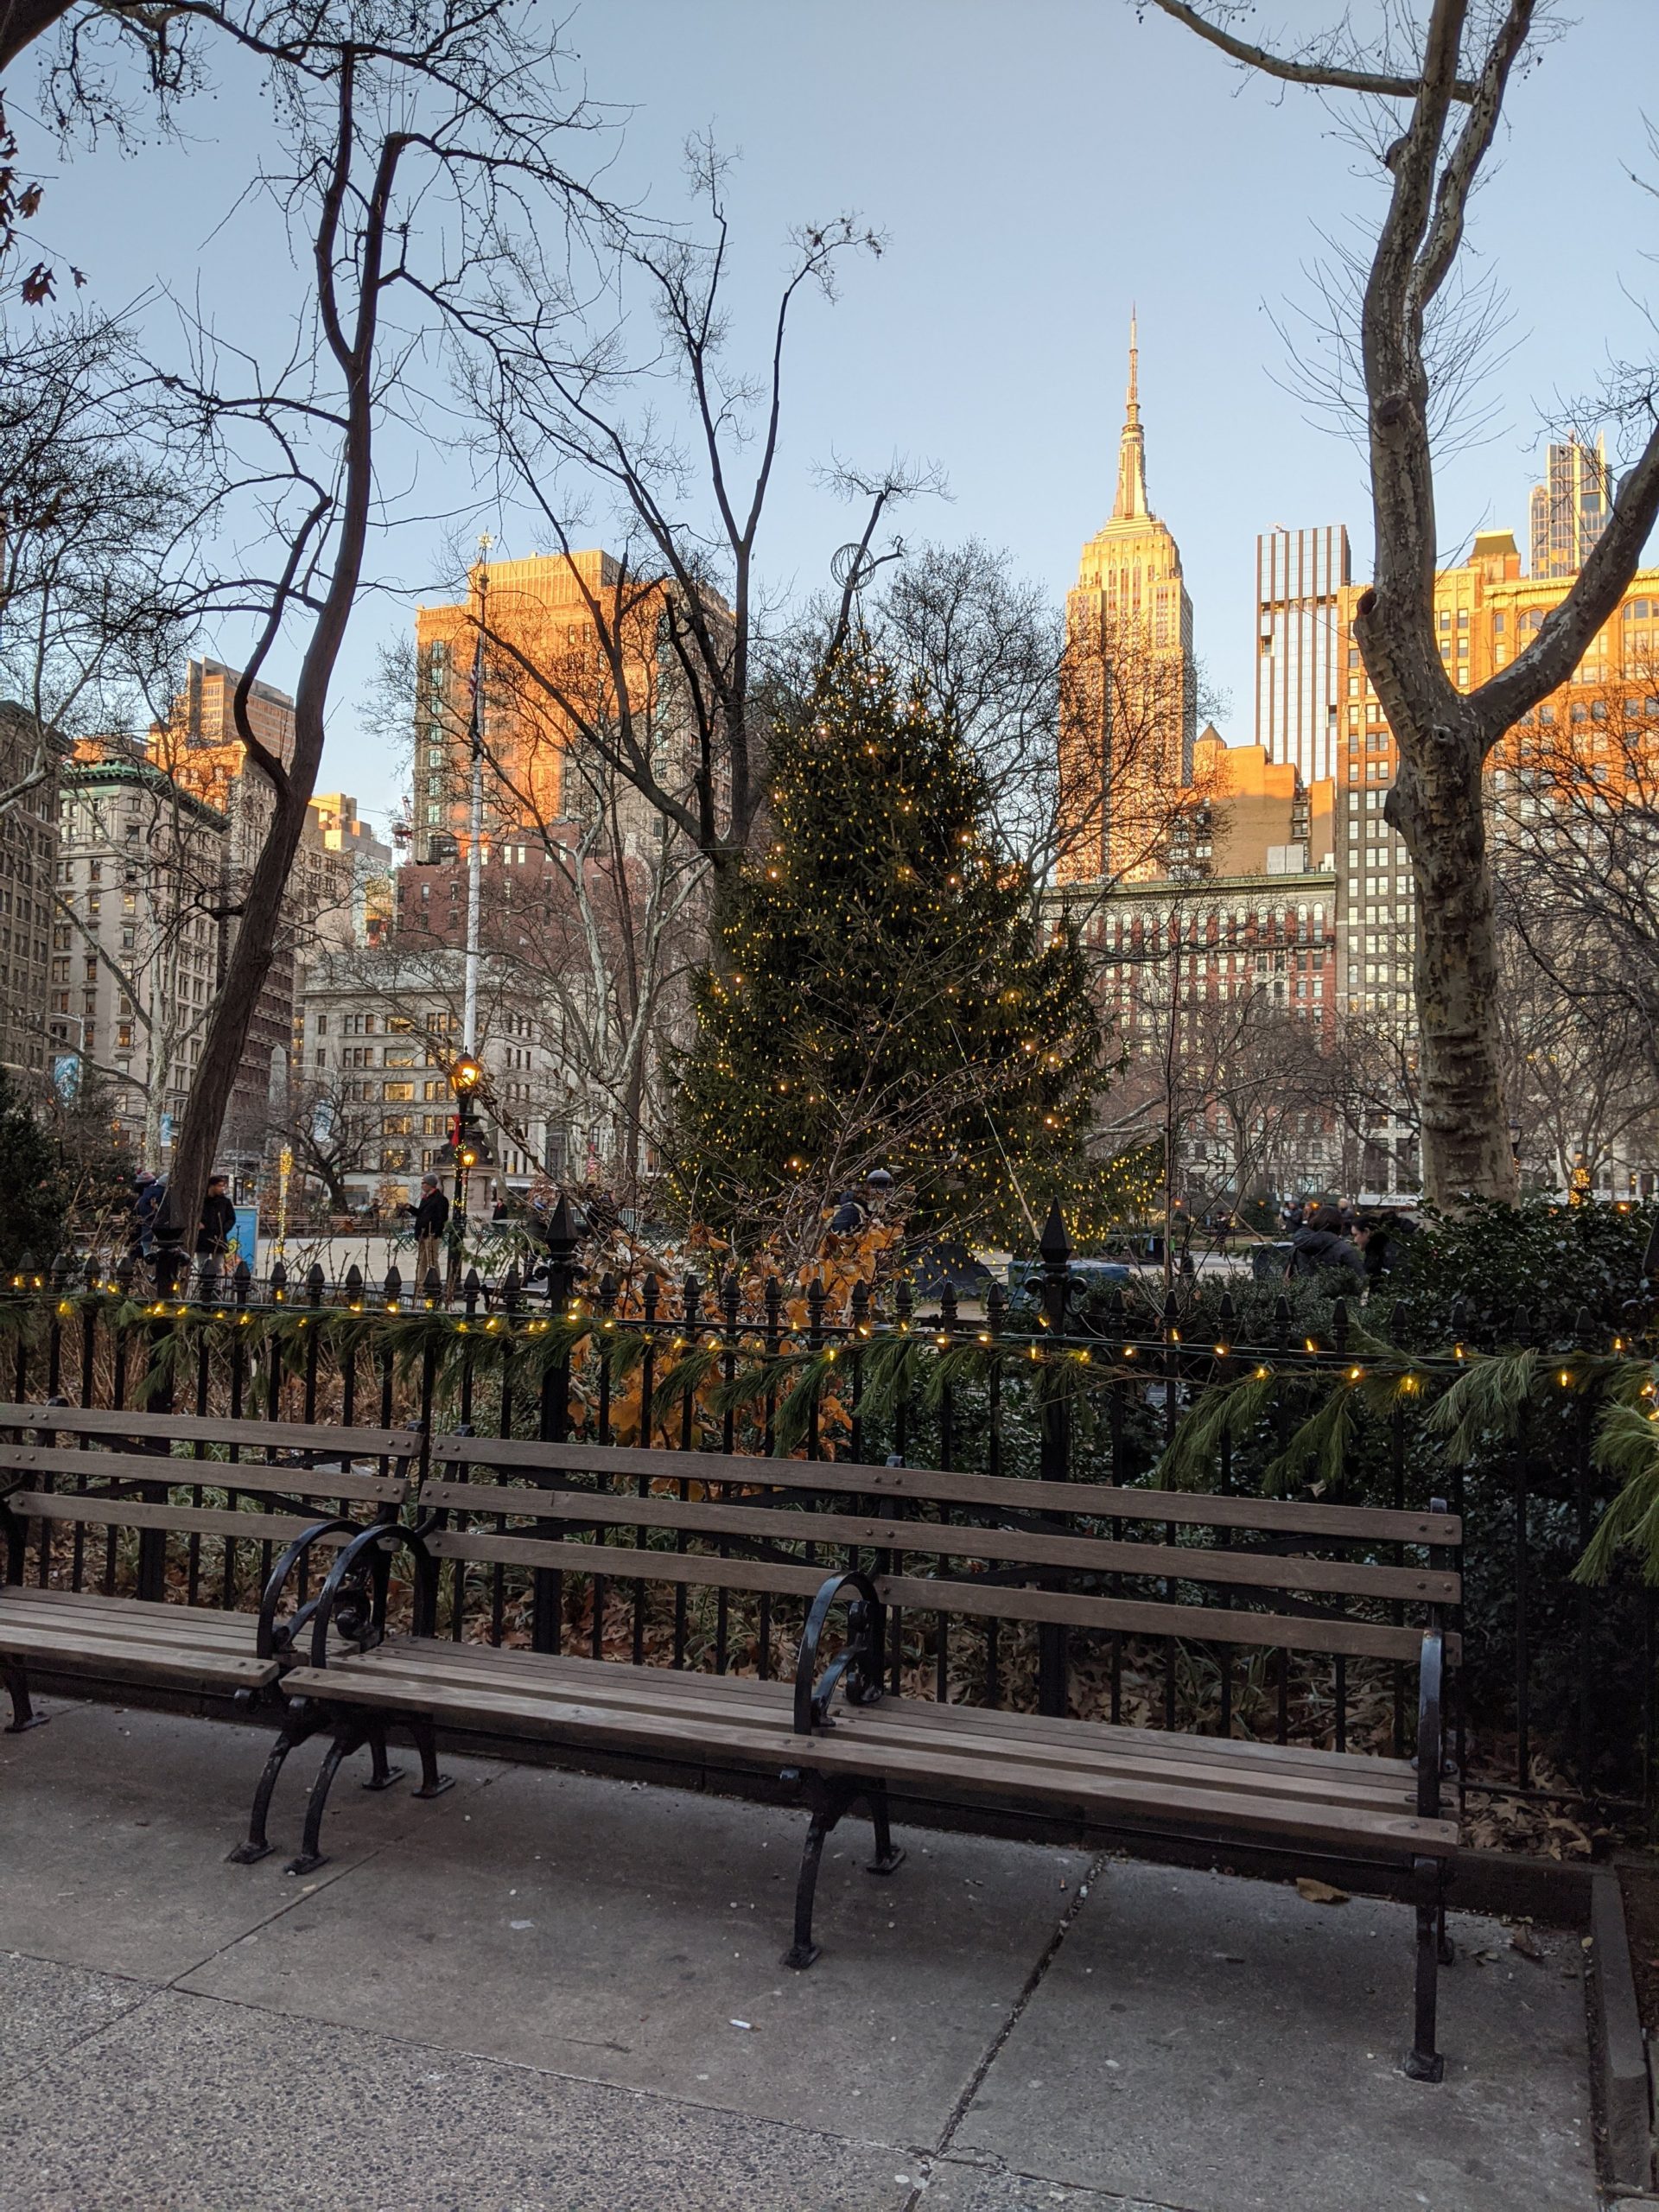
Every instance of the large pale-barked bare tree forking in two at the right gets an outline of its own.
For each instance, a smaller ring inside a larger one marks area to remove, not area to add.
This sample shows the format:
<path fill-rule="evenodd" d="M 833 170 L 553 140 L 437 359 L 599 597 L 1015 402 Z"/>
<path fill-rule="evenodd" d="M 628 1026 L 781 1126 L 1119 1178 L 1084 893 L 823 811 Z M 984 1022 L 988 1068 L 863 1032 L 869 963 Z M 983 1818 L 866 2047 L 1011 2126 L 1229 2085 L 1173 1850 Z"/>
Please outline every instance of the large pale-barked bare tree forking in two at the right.
<path fill-rule="evenodd" d="M 1413 863 L 1416 1000 L 1422 1033 L 1422 1166 L 1429 1197 L 1511 1199 L 1515 1168 L 1498 1035 L 1498 920 L 1486 847 L 1484 765 L 1528 708 L 1566 684 L 1624 597 L 1659 518 L 1659 427 L 1650 365 L 1617 396 L 1635 431 L 1606 531 L 1533 641 L 1486 684 L 1458 690 L 1433 628 L 1440 542 L 1427 336 L 1460 268 L 1464 219 L 1515 71 L 1546 35 L 1540 0 L 1433 0 L 1418 27 L 1376 7 L 1376 38 L 1352 15 L 1321 40 L 1274 53 L 1245 40 L 1241 9 L 1148 0 L 1234 62 L 1323 91 L 1356 93 L 1396 117 L 1378 133 L 1387 212 L 1358 305 L 1376 580 L 1354 635 L 1400 748 L 1387 816 Z M 1398 122 L 1405 108 L 1402 122 Z"/>

